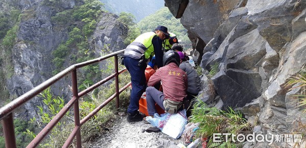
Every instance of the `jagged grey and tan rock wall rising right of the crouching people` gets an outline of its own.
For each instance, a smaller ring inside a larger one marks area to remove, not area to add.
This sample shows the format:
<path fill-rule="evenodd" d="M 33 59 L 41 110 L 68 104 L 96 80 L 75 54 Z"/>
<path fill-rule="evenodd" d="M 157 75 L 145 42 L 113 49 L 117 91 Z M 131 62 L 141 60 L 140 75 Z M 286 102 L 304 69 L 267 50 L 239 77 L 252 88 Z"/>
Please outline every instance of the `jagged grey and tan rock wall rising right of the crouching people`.
<path fill-rule="evenodd" d="M 183 1 L 165 3 L 174 16 L 182 12 Z M 284 85 L 306 63 L 306 2 L 189 0 L 185 7 L 181 23 L 197 63 L 208 70 L 219 63 L 212 81 L 223 107 L 242 109 L 265 133 L 290 133 L 303 107 L 293 96 L 300 90 Z"/>

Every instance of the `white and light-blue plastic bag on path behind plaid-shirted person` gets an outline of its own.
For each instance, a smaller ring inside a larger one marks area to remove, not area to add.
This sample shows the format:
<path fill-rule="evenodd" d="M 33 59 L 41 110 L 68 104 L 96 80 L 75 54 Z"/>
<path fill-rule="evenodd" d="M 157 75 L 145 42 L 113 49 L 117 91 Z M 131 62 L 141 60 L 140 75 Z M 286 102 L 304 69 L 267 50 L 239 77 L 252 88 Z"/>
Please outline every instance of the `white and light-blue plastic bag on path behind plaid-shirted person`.
<path fill-rule="evenodd" d="M 176 114 L 166 113 L 161 116 L 156 113 L 154 114 L 154 118 L 150 116 L 146 117 L 146 121 L 158 127 L 163 133 L 177 139 L 183 134 L 185 125 L 187 124 L 186 110 L 180 110 Z"/>

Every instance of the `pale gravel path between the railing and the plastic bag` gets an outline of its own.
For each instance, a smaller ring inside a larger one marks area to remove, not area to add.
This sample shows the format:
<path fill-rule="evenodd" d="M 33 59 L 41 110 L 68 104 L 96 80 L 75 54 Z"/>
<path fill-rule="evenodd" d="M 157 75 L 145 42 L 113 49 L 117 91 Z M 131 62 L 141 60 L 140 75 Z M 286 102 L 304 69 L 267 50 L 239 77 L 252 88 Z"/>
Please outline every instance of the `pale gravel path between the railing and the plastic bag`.
<path fill-rule="evenodd" d="M 178 147 L 181 138 L 174 139 L 162 132 L 143 132 L 152 127 L 143 122 L 129 123 L 126 115 L 117 115 L 103 133 L 86 144 L 86 147 Z"/>

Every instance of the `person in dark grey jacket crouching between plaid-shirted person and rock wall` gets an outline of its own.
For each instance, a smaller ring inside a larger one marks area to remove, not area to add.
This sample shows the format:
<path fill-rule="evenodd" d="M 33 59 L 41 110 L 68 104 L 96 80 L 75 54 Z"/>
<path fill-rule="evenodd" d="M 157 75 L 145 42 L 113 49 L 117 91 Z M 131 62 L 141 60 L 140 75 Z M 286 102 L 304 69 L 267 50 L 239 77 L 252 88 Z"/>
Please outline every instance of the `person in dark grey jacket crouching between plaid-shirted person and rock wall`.
<path fill-rule="evenodd" d="M 187 117 L 191 114 L 192 105 L 190 105 L 191 100 L 198 95 L 200 92 L 200 78 L 196 70 L 187 61 L 186 56 L 183 52 L 177 52 L 181 58 L 180 68 L 187 73 L 188 88 L 187 88 L 187 98 L 184 99 L 184 108 L 186 109 Z"/>

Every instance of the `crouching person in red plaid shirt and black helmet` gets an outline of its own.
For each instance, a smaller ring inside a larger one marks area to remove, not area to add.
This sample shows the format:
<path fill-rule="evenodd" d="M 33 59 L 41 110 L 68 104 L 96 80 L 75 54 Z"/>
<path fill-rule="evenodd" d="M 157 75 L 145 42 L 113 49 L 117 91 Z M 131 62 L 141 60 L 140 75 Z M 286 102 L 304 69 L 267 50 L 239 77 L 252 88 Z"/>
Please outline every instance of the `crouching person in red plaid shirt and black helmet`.
<path fill-rule="evenodd" d="M 149 116 L 157 113 L 155 103 L 170 114 L 175 114 L 183 109 L 183 100 L 187 96 L 187 74 L 179 68 L 180 55 L 173 51 L 167 51 L 163 57 L 165 66 L 159 68 L 149 79 L 146 89 L 147 110 Z M 162 82 L 163 92 L 153 86 Z M 143 121 L 146 122 L 145 118 Z"/>

